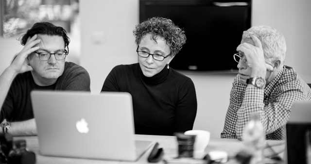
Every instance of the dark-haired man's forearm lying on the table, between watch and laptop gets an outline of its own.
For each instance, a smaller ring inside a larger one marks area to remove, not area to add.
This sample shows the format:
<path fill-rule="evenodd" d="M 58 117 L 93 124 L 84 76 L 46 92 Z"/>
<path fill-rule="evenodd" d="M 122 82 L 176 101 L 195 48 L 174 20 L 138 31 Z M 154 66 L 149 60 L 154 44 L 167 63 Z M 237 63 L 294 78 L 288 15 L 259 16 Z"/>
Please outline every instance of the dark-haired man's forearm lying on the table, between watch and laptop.
<path fill-rule="evenodd" d="M 13 136 L 36 135 L 37 130 L 35 118 L 21 122 L 11 122 L 11 126 L 8 129 L 8 133 L 12 134 Z"/>

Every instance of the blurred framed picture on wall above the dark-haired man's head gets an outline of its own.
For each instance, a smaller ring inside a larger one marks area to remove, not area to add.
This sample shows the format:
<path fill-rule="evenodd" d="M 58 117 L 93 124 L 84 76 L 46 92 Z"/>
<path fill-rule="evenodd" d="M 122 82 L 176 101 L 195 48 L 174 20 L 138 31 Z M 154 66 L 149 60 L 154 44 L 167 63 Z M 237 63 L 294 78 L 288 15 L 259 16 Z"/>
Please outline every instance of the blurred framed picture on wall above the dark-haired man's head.
<path fill-rule="evenodd" d="M 1 37 L 25 33 L 36 22 L 47 21 L 68 33 L 79 13 L 79 0 L 0 0 Z"/>

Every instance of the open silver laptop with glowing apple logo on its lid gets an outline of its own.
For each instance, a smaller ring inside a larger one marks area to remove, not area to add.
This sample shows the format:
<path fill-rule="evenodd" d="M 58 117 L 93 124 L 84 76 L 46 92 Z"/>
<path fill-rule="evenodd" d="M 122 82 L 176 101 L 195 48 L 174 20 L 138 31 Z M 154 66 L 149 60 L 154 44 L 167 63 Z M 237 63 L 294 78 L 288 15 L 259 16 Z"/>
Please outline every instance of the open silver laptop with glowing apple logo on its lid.
<path fill-rule="evenodd" d="M 153 143 L 136 141 L 126 92 L 32 91 L 42 155 L 137 161 Z"/>

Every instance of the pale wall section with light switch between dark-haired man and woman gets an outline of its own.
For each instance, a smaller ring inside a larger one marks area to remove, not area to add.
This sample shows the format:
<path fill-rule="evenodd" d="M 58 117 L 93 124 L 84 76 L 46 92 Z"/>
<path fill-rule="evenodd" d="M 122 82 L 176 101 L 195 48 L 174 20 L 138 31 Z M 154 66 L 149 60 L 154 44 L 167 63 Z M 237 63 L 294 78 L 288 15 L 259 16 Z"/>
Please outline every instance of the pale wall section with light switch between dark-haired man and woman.
<path fill-rule="evenodd" d="M 138 0 L 81 0 L 81 65 L 99 93 L 110 70 L 137 63 L 133 29 L 138 23 Z"/>

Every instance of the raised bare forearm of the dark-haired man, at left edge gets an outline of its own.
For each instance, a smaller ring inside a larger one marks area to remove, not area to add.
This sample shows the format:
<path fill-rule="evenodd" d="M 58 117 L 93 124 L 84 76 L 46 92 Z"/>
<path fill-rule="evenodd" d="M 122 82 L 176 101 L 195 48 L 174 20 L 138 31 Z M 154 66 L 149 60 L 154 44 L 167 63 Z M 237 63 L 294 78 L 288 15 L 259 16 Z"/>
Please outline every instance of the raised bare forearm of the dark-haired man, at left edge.
<path fill-rule="evenodd" d="M 10 67 L 6 68 L 0 75 L 0 107 L 2 107 L 2 104 L 16 75 L 16 71 Z"/>

